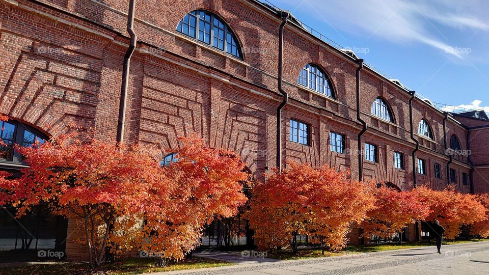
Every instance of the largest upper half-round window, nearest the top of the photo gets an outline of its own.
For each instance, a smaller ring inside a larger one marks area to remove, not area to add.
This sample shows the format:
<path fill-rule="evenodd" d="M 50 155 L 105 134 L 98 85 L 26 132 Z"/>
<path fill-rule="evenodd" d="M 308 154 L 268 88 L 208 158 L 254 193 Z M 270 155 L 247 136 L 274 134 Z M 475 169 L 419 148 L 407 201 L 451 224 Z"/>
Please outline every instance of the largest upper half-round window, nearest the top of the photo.
<path fill-rule="evenodd" d="M 178 23 L 177 32 L 242 59 L 242 52 L 231 28 L 217 15 L 196 10 L 187 13 Z"/>

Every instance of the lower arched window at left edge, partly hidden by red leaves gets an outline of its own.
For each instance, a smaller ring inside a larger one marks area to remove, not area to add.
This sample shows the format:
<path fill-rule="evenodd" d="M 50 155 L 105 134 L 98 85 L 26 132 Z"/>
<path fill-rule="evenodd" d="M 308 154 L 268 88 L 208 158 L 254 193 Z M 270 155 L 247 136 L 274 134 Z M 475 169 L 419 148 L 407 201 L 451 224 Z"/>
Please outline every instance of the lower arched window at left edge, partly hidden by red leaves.
<path fill-rule="evenodd" d="M 14 144 L 24 147 L 43 144 L 47 137 L 41 132 L 18 121 L 0 121 L 0 165 L 2 162 L 21 163 L 22 155 L 14 150 Z"/>

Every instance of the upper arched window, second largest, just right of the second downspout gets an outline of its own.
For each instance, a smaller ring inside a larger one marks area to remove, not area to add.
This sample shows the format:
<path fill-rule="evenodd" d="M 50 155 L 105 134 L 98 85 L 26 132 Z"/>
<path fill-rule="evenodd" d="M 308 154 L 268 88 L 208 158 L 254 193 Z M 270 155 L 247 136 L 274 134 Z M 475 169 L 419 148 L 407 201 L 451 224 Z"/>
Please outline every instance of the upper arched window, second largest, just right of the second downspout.
<path fill-rule="evenodd" d="M 320 94 L 335 98 L 333 86 L 328 75 L 316 65 L 307 64 L 304 66 L 297 78 L 297 82 Z"/>

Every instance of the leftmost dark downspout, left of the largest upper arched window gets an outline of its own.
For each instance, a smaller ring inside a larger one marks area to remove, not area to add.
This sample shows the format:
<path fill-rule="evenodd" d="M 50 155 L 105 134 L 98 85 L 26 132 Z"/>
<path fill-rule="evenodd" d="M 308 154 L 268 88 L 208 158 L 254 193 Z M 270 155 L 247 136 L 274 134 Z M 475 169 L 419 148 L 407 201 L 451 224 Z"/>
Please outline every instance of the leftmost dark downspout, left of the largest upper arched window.
<path fill-rule="evenodd" d="M 124 140 L 124 121 L 126 119 L 126 103 L 127 103 L 127 87 L 129 85 L 129 67 L 132 54 L 136 48 L 138 37 L 132 30 L 134 23 L 134 8 L 135 0 L 129 0 L 129 13 L 127 15 L 127 32 L 131 38 L 124 56 L 124 65 L 122 67 L 122 85 L 121 85 L 121 101 L 119 104 L 119 121 L 117 123 L 117 143 L 121 144 Z"/>

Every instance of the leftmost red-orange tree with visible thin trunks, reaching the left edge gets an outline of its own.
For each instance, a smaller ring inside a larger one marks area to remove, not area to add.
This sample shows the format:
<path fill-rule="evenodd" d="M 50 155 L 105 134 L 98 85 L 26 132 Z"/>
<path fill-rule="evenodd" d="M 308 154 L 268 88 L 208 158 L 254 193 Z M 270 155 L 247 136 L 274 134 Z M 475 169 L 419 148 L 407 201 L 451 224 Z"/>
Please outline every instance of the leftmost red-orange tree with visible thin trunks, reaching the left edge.
<path fill-rule="evenodd" d="M 54 214 L 80 221 L 92 267 L 100 266 L 106 246 L 115 243 L 114 232 L 125 231 L 121 226 L 141 226 L 149 187 L 164 181 L 157 162 L 141 148 L 103 143 L 76 130 L 15 150 L 29 168 L 2 183 L 2 195 L 9 198 L 2 203 L 16 206 L 19 216 L 45 204 Z"/>

